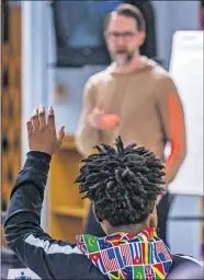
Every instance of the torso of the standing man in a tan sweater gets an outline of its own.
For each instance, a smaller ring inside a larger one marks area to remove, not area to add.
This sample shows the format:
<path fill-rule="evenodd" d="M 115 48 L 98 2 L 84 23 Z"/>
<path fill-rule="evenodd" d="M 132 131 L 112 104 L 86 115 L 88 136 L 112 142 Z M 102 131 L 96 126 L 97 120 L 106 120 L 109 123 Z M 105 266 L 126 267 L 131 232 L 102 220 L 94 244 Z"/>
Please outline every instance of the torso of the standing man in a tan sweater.
<path fill-rule="evenodd" d="M 129 74 L 103 71 L 95 79 L 95 105 L 102 104 L 106 114 L 118 114 L 120 125 L 101 131 L 101 141 L 111 144 L 121 135 L 124 143 L 145 145 L 157 156 L 163 156 L 166 136 L 158 114 L 158 73 L 155 68 Z"/>

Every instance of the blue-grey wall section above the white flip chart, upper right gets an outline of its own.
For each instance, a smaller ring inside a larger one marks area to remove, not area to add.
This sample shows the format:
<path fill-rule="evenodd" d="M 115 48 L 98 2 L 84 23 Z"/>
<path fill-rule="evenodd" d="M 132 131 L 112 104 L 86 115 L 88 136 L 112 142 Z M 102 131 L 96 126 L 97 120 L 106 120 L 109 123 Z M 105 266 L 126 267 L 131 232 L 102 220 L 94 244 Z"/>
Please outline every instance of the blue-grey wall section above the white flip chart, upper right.
<path fill-rule="evenodd" d="M 156 12 L 157 46 L 166 69 L 169 67 L 172 35 L 175 31 L 196 31 L 200 1 L 151 1 Z"/>

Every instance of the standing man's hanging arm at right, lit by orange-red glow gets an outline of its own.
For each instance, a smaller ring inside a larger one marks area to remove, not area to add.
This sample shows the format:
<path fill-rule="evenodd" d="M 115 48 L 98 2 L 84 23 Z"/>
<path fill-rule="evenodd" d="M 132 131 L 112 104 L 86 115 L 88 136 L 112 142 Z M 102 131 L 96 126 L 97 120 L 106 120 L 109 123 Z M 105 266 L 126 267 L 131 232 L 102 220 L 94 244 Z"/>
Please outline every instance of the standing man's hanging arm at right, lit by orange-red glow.
<path fill-rule="evenodd" d="M 166 183 L 175 177 L 186 154 L 186 135 L 183 106 L 178 90 L 170 77 L 162 77 L 157 88 L 157 108 L 171 154 L 167 160 Z"/>

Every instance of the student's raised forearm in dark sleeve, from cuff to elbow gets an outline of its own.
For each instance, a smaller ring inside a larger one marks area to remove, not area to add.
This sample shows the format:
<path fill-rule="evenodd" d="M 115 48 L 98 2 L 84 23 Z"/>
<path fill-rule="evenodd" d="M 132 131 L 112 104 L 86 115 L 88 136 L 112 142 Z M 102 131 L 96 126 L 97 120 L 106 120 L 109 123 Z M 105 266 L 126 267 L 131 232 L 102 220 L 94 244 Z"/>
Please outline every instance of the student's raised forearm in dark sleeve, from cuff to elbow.
<path fill-rule="evenodd" d="M 41 211 L 50 156 L 30 152 L 11 194 L 4 224 L 8 245 L 16 253 L 30 234 L 45 234 L 41 229 Z"/>

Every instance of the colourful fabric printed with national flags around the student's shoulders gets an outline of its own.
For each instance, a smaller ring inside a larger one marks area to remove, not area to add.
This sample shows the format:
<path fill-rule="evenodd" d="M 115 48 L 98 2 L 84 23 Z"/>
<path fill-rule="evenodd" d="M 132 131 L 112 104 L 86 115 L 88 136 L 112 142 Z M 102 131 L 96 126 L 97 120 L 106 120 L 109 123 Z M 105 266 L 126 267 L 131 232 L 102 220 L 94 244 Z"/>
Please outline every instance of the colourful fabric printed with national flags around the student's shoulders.
<path fill-rule="evenodd" d="M 134 236 L 115 233 L 105 237 L 77 236 L 79 249 L 107 279 L 165 279 L 172 256 L 152 228 Z"/>

